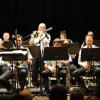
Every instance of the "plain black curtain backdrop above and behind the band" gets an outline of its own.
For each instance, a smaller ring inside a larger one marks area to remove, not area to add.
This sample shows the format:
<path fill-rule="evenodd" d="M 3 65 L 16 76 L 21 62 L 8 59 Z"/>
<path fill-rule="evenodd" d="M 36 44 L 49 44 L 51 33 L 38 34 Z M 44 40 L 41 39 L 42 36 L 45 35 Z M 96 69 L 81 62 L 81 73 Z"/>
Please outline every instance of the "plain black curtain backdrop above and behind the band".
<path fill-rule="evenodd" d="M 12 35 L 17 28 L 26 37 L 44 22 L 53 27 L 52 39 L 62 29 L 73 41 L 82 42 L 89 30 L 100 39 L 99 13 L 99 0 L 0 0 L 0 36 L 4 31 Z"/>

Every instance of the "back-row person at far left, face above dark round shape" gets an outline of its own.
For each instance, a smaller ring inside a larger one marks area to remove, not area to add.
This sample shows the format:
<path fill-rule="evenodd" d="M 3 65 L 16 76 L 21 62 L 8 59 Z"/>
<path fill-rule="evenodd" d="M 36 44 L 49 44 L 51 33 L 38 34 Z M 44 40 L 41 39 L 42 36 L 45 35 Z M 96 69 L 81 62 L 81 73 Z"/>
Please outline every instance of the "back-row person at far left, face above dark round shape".
<path fill-rule="evenodd" d="M 6 49 L 13 48 L 14 44 L 13 41 L 10 40 L 10 34 L 9 32 L 4 32 L 3 33 L 3 47 Z"/>

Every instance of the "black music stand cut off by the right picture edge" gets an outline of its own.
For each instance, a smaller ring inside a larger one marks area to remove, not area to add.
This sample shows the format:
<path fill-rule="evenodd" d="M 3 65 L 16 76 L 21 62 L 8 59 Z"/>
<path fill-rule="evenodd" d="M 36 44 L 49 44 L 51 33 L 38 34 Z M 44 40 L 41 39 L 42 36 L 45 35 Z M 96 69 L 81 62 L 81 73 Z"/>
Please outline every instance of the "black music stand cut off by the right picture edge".
<path fill-rule="evenodd" d="M 100 48 L 82 48 L 81 60 L 92 61 L 94 66 L 94 61 L 100 61 Z M 93 75 L 93 81 L 95 83 L 95 75 Z M 95 94 L 95 86 L 94 86 L 94 94 Z"/>

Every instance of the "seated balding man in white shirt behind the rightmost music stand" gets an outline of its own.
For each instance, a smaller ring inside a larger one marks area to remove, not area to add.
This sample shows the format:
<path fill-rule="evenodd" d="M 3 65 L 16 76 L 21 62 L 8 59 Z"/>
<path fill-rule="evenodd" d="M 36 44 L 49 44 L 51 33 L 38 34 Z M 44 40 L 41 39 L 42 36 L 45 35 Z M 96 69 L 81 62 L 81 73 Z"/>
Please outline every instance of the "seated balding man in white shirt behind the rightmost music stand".
<path fill-rule="evenodd" d="M 96 45 L 93 45 L 93 37 L 91 37 L 90 35 L 86 35 L 85 43 L 86 45 L 82 48 L 97 48 Z M 81 79 L 81 76 L 86 75 L 86 73 L 90 73 L 96 76 L 96 87 L 97 89 L 100 89 L 100 61 L 94 61 L 93 63 L 89 61 L 82 61 L 81 49 L 78 56 L 78 64 L 81 67 L 75 70 L 73 73 L 75 80 L 78 82 L 79 86 L 81 86 L 82 88 L 86 88 L 83 80 Z"/>

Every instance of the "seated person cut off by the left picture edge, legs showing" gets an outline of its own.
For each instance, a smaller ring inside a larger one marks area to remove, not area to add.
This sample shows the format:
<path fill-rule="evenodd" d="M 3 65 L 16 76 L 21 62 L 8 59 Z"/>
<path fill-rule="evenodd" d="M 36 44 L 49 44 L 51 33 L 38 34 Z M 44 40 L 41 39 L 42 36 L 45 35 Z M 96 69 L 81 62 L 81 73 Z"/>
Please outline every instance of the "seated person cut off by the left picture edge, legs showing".
<path fill-rule="evenodd" d="M 3 49 L 2 44 L 3 41 L 0 38 L 0 50 Z M 8 91 L 12 88 L 9 81 L 12 76 L 9 65 L 9 62 L 3 61 L 2 56 L 0 56 L 0 88 L 6 88 Z"/>

